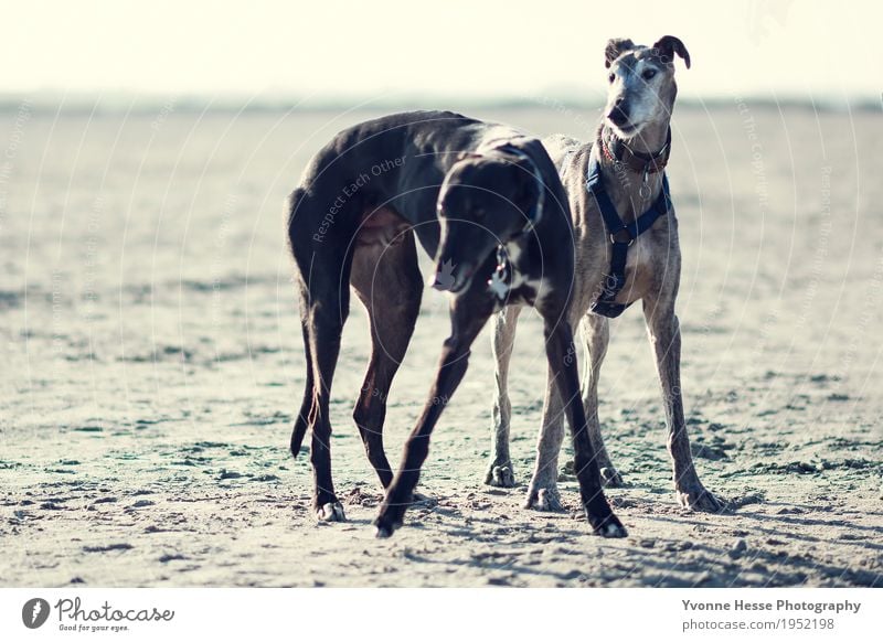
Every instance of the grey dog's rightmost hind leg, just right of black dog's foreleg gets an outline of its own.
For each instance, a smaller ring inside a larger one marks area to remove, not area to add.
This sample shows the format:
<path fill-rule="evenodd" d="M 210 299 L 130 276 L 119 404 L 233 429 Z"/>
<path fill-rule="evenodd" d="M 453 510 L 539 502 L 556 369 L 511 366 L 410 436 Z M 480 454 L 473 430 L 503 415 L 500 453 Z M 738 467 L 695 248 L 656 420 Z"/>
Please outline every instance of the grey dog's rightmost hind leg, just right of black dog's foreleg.
<path fill-rule="evenodd" d="M 623 485 L 623 478 L 610 463 L 610 456 L 607 454 L 607 448 L 604 446 L 598 419 L 598 375 L 600 375 L 600 366 L 607 355 L 607 345 L 610 342 L 610 323 L 606 317 L 586 314 L 583 318 L 582 330 L 586 352 L 588 352 L 588 367 L 583 378 L 583 407 L 586 411 L 588 437 L 592 439 L 592 447 L 598 460 L 604 485 L 618 488 Z"/>

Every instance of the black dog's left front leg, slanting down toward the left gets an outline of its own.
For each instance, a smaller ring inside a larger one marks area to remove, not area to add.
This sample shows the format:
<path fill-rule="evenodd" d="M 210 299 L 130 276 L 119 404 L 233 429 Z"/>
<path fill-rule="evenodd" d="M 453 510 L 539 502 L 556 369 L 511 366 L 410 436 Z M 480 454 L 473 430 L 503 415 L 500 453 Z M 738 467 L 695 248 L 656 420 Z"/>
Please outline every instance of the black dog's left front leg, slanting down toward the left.
<path fill-rule="evenodd" d="M 435 383 L 417 425 L 405 442 L 405 454 L 398 472 L 386 489 L 386 496 L 374 520 L 377 537 L 390 537 L 402 525 L 421 477 L 421 467 L 429 452 L 429 436 L 442 411 L 466 374 L 469 351 L 492 311 L 487 297 L 455 298 L 450 308 L 451 334 L 445 341 Z"/>

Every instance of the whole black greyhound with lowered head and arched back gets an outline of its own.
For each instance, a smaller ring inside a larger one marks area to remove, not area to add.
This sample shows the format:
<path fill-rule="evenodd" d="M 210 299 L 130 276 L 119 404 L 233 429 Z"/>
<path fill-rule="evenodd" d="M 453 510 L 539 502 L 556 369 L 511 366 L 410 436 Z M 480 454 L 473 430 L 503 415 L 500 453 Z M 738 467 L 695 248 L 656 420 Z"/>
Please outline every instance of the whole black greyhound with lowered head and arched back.
<path fill-rule="evenodd" d="M 604 497 L 586 431 L 568 319 L 574 243 L 567 196 L 539 140 L 451 113 L 398 114 L 336 136 L 289 202 L 307 356 L 307 389 L 291 435 L 297 457 L 312 429 L 313 507 L 343 520 L 331 481 L 329 396 L 351 285 L 368 309 L 372 355 L 353 418 L 386 489 L 377 536 L 401 526 L 429 435 L 466 373 L 469 349 L 507 302 L 545 321 L 549 365 L 565 399 L 583 506 L 594 531 L 624 536 Z M 386 395 L 404 357 L 423 279 L 414 234 L 435 257 L 434 286 L 454 293 L 451 334 L 398 473 L 383 452 Z"/>

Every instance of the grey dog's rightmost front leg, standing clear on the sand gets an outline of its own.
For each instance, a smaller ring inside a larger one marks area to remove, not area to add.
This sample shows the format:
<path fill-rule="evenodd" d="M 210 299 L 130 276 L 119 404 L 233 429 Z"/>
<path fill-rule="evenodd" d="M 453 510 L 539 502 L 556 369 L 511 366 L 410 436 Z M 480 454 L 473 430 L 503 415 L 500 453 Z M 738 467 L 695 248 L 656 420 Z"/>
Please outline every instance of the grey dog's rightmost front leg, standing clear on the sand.
<path fill-rule="evenodd" d="M 668 449 L 674 472 L 674 492 L 678 502 L 685 509 L 717 512 L 724 504 L 699 481 L 690 451 L 690 438 L 687 436 L 681 398 L 681 329 L 674 314 L 673 301 L 673 297 L 664 301 L 646 299 L 643 314 L 662 386 Z"/>

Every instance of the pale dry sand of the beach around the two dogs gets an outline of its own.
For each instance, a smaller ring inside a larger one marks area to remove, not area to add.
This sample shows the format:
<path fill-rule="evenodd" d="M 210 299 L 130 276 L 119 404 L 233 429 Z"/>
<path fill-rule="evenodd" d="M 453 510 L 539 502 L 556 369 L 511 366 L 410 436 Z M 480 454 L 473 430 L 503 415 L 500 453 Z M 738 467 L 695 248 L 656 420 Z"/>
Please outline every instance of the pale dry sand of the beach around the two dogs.
<path fill-rule="evenodd" d="M 597 116 L 470 113 L 581 138 Z M 883 586 L 883 116 L 675 114 L 687 414 L 702 479 L 735 510 L 675 506 L 632 309 L 600 383 L 623 541 L 589 534 L 566 473 L 567 513 L 522 509 L 545 372 L 534 314 L 511 382 L 520 485 L 481 483 L 486 330 L 425 467 L 437 504 L 374 539 L 380 492 L 350 418 L 358 303 L 332 404 L 349 522 L 316 523 L 309 463 L 287 451 L 305 366 L 281 203 L 311 153 L 369 116 L 2 116 L 0 585 Z M 427 292 L 390 396 L 392 461 L 447 329 Z"/>

